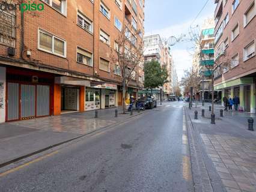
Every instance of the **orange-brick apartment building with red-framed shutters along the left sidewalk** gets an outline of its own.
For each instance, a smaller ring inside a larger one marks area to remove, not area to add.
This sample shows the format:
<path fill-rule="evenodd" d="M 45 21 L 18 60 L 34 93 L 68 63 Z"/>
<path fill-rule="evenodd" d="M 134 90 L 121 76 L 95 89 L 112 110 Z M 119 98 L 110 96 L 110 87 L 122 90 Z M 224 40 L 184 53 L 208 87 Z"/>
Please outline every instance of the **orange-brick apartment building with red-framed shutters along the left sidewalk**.
<path fill-rule="evenodd" d="M 0 122 L 121 105 L 120 68 L 111 63 L 111 47 L 124 26 L 132 34 L 141 30 L 136 43 L 142 41 L 144 1 L 35 4 L 44 10 L 0 10 Z M 141 68 L 127 97 L 136 97 L 143 85 Z"/>

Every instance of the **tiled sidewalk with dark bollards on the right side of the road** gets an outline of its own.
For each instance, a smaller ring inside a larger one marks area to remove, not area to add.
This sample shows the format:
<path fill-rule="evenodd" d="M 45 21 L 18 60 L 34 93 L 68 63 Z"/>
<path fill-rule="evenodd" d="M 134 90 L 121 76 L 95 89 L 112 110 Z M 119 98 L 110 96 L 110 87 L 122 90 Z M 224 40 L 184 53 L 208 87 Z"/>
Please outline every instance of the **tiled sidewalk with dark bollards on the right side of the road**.
<path fill-rule="evenodd" d="M 209 175 L 218 173 L 227 191 L 256 191 L 256 134 L 248 130 L 247 122 L 249 117 L 255 119 L 255 115 L 228 111 L 220 117 L 222 106 L 216 105 L 216 124 L 212 125 L 209 105 L 200 104 L 195 109 L 194 104 L 191 110 L 186 107 L 192 129 L 200 139 L 202 155 L 206 155 L 204 161 Z M 205 118 L 201 116 L 202 109 L 205 110 Z M 198 111 L 198 119 L 194 119 L 195 110 Z"/>

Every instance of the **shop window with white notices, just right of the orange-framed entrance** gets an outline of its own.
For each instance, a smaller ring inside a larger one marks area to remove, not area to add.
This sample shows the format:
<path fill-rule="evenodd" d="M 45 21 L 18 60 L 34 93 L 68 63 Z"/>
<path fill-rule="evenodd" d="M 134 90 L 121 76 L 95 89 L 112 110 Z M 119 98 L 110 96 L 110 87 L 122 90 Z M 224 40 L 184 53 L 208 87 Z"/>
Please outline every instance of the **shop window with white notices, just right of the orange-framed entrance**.
<path fill-rule="evenodd" d="M 100 109 L 100 89 L 85 89 L 85 110 Z"/>

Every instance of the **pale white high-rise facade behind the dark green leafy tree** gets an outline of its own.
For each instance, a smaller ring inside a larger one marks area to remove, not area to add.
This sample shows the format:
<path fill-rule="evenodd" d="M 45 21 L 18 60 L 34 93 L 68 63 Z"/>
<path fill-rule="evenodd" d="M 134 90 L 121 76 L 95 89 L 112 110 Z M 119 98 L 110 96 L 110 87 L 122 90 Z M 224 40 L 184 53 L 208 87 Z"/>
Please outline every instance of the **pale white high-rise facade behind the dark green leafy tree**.
<path fill-rule="evenodd" d="M 162 87 L 164 93 L 164 99 L 171 95 L 171 69 L 172 58 L 170 55 L 169 47 L 162 43 L 160 35 L 150 35 L 144 37 L 144 61 L 150 62 L 152 60 L 158 61 L 160 65 L 166 68 L 168 72 L 168 83 L 165 83 Z M 156 98 L 160 100 L 159 94 Z"/>

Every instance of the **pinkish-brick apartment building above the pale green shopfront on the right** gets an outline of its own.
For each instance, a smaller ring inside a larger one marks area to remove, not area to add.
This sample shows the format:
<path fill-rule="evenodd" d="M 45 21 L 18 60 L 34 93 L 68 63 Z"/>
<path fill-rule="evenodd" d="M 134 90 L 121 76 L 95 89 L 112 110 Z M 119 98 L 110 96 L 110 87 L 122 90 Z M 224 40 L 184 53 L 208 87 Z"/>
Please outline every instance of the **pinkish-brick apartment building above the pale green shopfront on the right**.
<path fill-rule="evenodd" d="M 222 97 L 238 96 L 243 110 L 255 113 L 256 1 L 215 3 L 215 62 L 222 64 L 215 90 L 222 91 Z"/>

